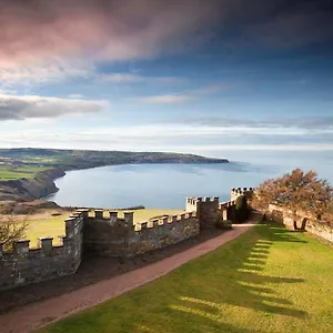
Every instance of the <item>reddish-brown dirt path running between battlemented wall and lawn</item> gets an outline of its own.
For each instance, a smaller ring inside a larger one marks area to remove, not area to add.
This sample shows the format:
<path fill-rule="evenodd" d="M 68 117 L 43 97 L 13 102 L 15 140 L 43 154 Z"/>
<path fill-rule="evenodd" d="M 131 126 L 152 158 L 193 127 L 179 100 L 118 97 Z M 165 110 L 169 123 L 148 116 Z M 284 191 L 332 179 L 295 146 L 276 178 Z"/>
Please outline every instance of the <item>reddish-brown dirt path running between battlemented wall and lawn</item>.
<path fill-rule="evenodd" d="M 84 309 L 89 309 L 132 289 L 144 285 L 170 273 L 182 264 L 209 253 L 246 232 L 256 222 L 235 224 L 234 228 L 214 239 L 195 245 L 157 263 L 88 285 L 80 290 L 29 304 L 0 315 L 1 333 L 26 333 L 58 321 Z"/>

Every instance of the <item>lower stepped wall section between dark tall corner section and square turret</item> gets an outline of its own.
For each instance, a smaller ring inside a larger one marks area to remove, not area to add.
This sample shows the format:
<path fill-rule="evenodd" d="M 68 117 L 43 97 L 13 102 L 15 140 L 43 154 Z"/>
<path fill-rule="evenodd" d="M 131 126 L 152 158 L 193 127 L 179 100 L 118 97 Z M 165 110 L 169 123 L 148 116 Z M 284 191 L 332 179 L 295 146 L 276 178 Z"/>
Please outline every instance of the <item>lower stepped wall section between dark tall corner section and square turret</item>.
<path fill-rule="evenodd" d="M 137 224 L 131 230 L 128 255 L 150 252 L 198 235 L 200 222 L 195 212 L 157 219 Z"/>

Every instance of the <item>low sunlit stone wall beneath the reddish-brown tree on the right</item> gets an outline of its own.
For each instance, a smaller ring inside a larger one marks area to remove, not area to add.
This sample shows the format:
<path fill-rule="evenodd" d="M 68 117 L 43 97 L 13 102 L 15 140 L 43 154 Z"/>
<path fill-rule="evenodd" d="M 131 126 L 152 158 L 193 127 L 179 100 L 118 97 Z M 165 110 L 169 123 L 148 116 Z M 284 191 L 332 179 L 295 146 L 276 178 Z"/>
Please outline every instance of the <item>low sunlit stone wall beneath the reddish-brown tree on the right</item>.
<path fill-rule="evenodd" d="M 287 230 L 304 230 L 329 242 L 333 242 L 333 223 L 322 222 L 305 212 L 293 212 L 276 204 L 270 204 L 266 219 L 283 223 Z"/>

